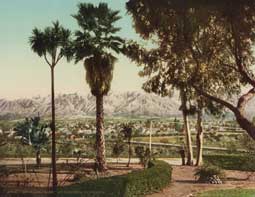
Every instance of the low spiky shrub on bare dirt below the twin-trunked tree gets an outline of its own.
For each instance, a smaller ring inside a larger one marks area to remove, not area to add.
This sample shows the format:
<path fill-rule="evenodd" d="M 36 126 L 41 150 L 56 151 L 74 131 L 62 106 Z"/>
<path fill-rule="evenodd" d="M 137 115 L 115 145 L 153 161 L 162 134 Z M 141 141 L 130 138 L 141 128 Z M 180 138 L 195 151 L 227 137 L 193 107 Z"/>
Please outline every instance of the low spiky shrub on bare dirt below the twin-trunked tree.
<path fill-rule="evenodd" d="M 198 168 L 195 172 L 195 177 L 198 178 L 199 182 L 207 182 L 211 177 L 217 176 L 220 179 L 225 178 L 225 174 L 221 168 L 213 165 L 203 165 Z"/>

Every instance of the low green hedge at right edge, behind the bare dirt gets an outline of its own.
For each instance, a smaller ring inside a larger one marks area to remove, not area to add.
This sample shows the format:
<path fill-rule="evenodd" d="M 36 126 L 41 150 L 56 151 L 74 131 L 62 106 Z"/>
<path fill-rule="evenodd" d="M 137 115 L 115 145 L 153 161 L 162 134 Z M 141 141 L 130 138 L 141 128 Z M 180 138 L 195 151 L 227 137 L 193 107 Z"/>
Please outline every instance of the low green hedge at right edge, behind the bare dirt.
<path fill-rule="evenodd" d="M 255 157 L 243 155 L 204 155 L 206 163 L 219 166 L 226 170 L 255 171 Z"/>

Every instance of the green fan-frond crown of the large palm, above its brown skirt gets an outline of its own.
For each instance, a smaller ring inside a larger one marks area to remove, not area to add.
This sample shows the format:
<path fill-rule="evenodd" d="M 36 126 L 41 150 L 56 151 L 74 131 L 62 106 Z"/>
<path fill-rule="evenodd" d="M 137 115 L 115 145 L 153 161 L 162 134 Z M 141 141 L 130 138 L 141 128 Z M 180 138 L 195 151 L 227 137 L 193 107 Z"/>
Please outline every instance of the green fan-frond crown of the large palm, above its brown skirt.
<path fill-rule="evenodd" d="M 73 15 L 81 28 L 75 33 L 76 42 L 81 43 L 83 40 L 83 43 L 87 43 L 86 45 L 96 48 L 94 51 L 101 51 L 101 53 L 109 50 L 119 53 L 124 42 L 120 37 L 114 35 L 120 30 L 115 27 L 115 22 L 120 19 L 119 11 L 111 10 L 106 3 L 100 3 L 98 6 L 80 3 L 78 8 L 78 13 Z M 80 46 L 82 47 L 82 45 Z"/>

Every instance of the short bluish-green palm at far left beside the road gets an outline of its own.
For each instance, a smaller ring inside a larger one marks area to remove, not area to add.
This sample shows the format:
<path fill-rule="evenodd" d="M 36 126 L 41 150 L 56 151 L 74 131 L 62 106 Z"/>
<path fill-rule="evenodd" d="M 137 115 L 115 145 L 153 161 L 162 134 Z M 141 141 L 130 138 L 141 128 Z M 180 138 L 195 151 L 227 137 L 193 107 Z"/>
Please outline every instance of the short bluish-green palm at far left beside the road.
<path fill-rule="evenodd" d="M 21 142 L 31 145 L 36 150 L 36 164 L 41 164 L 41 149 L 48 143 L 48 125 L 40 124 L 40 117 L 26 118 L 23 122 L 18 122 L 14 128 L 16 136 L 21 137 Z"/>

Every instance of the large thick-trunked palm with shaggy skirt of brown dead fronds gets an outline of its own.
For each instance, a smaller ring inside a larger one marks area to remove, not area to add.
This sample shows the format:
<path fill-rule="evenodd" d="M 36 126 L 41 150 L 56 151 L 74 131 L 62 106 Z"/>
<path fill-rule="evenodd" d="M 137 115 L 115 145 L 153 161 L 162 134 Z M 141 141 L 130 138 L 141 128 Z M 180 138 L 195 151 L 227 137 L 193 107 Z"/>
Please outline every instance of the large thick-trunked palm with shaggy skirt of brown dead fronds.
<path fill-rule="evenodd" d="M 123 40 L 115 34 L 120 30 L 114 23 L 120 19 L 119 11 L 108 8 L 106 3 L 94 6 L 80 3 L 73 15 L 80 30 L 75 32 L 73 53 L 75 62 L 82 61 L 86 81 L 96 97 L 96 164 L 99 171 L 107 169 L 105 160 L 103 97 L 109 92 L 113 78 L 113 53 L 121 52 Z"/>

